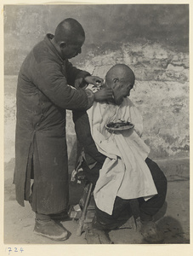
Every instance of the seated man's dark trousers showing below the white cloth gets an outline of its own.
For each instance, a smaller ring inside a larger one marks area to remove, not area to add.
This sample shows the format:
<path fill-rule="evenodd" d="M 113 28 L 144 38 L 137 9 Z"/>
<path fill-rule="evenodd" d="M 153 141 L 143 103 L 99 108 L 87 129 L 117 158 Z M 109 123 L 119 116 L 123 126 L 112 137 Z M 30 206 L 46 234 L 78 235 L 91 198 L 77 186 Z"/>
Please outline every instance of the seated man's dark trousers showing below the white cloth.
<path fill-rule="evenodd" d="M 148 201 L 145 201 L 143 198 L 138 199 L 139 217 L 141 221 L 150 221 L 153 215 L 155 215 L 163 206 L 166 199 L 167 178 L 154 161 L 147 158 L 145 162 L 150 169 L 158 194 Z M 131 200 L 124 200 L 116 196 L 112 215 L 109 215 L 96 207 L 96 218 L 94 220 L 96 227 L 101 230 L 111 230 L 118 227 L 122 223 L 120 221 L 122 212 L 125 212 L 126 210 L 131 212 L 130 202 Z"/>

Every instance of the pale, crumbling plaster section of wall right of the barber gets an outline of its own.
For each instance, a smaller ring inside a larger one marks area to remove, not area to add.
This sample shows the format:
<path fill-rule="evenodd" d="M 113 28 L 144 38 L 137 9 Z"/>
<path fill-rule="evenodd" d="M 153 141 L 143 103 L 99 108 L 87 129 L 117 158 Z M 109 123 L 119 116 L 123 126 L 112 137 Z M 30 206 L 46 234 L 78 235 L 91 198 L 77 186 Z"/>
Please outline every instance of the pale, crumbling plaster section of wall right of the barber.
<path fill-rule="evenodd" d="M 106 50 L 93 58 L 88 53 L 81 66 L 105 78 L 116 63 L 127 64 L 135 73 L 130 98 L 143 115 L 150 157 L 188 157 L 189 55 L 156 43 L 123 44 L 121 50 Z"/>

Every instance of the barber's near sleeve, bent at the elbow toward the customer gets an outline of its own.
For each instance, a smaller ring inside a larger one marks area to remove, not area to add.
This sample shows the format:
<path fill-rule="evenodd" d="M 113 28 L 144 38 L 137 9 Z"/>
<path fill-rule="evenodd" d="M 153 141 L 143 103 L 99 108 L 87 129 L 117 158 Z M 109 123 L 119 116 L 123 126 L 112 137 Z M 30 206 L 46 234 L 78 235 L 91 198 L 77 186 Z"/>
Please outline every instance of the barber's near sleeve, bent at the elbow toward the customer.
<path fill-rule="evenodd" d="M 68 85 L 58 63 L 42 61 L 38 63 L 36 74 L 34 84 L 60 108 L 86 110 L 92 106 L 93 92 L 76 90 Z"/>

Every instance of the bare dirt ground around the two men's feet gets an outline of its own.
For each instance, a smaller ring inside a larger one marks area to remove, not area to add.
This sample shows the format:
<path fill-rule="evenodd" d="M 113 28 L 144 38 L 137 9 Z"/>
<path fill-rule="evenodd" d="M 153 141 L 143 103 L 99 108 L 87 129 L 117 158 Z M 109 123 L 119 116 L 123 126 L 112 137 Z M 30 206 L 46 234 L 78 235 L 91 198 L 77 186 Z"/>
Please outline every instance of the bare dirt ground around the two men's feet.
<path fill-rule="evenodd" d="M 157 161 L 156 161 L 157 162 Z M 190 175 L 189 160 L 160 160 L 157 162 L 167 176 L 167 200 L 155 216 L 164 234 L 164 244 L 190 243 Z M 61 222 L 69 230 L 66 241 L 52 241 L 33 234 L 34 213 L 26 202 L 20 207 L 14 195 L 14 159 L 5 164 L 4 170 L 4 244 L 87 244 L 85 233 L 77 236 L 77 222 Z M 70 185 L 70 202 L 76 205 L 82 195 L 82 185 Z M 119 230 L 110 232 L 115 244 L 145 244 L 139 231 L 128 220 Z"/>

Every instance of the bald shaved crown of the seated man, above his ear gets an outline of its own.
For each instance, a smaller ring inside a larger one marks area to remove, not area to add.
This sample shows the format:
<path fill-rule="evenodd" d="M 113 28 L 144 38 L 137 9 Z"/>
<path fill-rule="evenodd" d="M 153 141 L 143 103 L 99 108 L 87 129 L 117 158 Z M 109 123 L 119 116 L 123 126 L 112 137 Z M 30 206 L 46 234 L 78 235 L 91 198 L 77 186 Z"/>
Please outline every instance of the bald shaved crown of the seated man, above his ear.
<path fill-rule="evenodd" d="M 111 85 L 114 79 L 119 81 L 128 80 L 131 84 L 134 84 L 135 76 L 130 67 L 125 64 L 116 64 L 106 73 L 106 84 Z"/>

